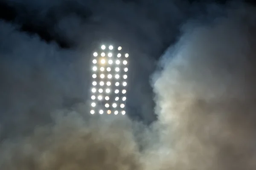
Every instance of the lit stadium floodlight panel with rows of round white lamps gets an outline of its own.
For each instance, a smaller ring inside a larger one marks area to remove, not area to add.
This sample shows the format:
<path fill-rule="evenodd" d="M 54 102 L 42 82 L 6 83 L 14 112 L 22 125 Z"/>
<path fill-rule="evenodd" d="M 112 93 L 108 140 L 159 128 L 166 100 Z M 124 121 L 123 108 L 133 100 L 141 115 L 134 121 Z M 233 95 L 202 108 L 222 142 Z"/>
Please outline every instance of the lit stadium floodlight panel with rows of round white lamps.
<path fill-rule="evenodd" d="M 99 45 L 92 54 L 91 114 L 125 115 L 129 54 Z"/>

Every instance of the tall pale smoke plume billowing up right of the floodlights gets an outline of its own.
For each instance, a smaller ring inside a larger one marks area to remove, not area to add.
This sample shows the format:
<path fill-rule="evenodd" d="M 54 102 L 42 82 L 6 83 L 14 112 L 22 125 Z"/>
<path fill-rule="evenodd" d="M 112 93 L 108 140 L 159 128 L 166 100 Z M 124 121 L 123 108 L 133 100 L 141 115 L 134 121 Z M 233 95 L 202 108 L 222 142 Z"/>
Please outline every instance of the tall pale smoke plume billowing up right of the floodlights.
<path fill-rule="evenodd" d="M 188 23 L 164 56 L 154 89 L 170 169 L 256 168 L 255 16 L 243 6 L 206 26 Z"/>

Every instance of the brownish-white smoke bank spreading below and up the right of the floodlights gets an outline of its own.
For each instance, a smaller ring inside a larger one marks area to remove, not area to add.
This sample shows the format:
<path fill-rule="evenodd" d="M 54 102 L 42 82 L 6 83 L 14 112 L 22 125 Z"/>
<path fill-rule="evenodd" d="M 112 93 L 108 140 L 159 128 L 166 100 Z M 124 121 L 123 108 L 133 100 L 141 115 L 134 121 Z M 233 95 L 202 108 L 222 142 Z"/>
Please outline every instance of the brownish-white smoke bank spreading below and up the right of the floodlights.
<path fill-rule="evenodd" d="M 254 8 L 240 6 L 208 24 L 184 26 L 184 34 L 163 56 L 163 71 L 154 79 L 159 121 L 152 129 L 159 131 L 160 140 L 151 129 L 126 117 L 88 120 L 81 116 L 87 114 L 84 105 L 54 113 L 36 105 L 35 110 L 26 107 L 20 113 L 35 116 L 42 109 L 41 115 L 53 115 L 53 121 L 36 126 L 26 136 L 3 140 L 0 169 L 255 170 L 254 16 Z M 28 87 L 38 87 L 40 83 L 31 85 L 34 79 L 27 77 L 23 80 L 28 80 Z M 49 83 L 49 89 L 58 88 Z M 23 94 L 12 98 L 17 112 L 23 108 L 17 100 L 24 99 Z M 51 91 L 43 94 L 58 96 Z M 47 97 L 37 103 L 41 101 Z"/>

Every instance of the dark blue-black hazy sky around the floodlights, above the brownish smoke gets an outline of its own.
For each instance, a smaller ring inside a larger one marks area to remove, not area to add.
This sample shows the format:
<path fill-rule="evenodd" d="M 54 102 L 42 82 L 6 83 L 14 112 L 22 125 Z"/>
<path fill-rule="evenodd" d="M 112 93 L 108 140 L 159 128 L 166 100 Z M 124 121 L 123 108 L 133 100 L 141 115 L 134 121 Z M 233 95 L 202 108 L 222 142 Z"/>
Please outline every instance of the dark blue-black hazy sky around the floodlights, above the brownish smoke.
<path fill-rule="evenodd" d="M 219 9 L 229 4 L 212 0 L 1 0 L 1 121 L 33 126 L 47 121 L 45 112 L 86 102 L 87 56 L 101 42 L 122 44 L 130 51 L 129 116 L 145 123 L 156 120 L 151 74 L 157 60 L 176 42 L 183 23 L 208 22 L 224 15 Z"/>

